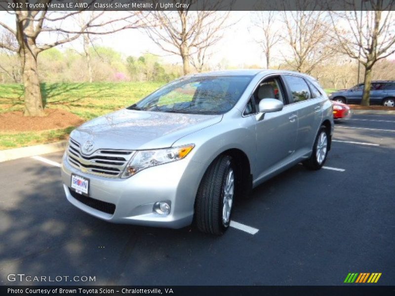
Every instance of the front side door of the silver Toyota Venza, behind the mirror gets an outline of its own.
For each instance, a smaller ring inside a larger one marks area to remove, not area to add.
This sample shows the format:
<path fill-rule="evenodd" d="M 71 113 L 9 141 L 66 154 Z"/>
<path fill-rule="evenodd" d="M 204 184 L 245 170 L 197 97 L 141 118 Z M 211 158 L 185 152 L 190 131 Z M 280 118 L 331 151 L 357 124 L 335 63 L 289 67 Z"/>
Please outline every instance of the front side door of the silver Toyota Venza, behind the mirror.
<path fill-rule="evenodd" d="M 264 93 L 262 87 L 269 91 Z M 263 119 L 259 118 L 259 114 L 256 116 L 256 172 L 254 175 L 260 179 L 276 170 L 281 163 L 291 157 L 295 150 L 298 118 L 297 111 L 288 105 L 287 92 L 278 75 L 262 80 L 253 97 L 257 106 L 260 100 L 267 98 L 281 100 L 284 103 L 281 111 L 266 113 Z"/>

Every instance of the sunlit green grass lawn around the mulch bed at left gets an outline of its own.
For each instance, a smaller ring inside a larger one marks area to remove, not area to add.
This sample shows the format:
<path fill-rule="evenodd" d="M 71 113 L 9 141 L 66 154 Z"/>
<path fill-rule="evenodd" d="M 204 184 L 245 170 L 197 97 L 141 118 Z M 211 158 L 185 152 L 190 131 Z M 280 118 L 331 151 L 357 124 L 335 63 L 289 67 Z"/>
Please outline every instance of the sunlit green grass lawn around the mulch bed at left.
<path fill-rule="evenodd" d="M 65 109 L 89 120 L 132 105 L 162 85 L 158 82 L 42 83 L 41 93 L 46 108 Z M 0 113 L 23 109 L 22 85 L 0 84 Z M 72 130 L 73 127 L 41 132 L 0 132 L 0 149 L 59 141 L 66 139 Z"/>

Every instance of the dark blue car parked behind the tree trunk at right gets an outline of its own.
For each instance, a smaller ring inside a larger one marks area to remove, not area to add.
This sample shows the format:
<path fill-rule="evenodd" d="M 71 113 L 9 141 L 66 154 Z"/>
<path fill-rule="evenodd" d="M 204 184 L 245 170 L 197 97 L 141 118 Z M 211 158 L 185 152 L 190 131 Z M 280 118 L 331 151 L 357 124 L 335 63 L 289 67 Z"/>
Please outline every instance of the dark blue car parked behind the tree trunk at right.
<path fill-rule="evenodd" d="M 330 94 L 329 99 L 344 104 L 360 104 L 362 101 L 363 83 L 350 89 L 340 90 Z M 395 81 L 372 81 L 370 104 L 395 107 Z"/>

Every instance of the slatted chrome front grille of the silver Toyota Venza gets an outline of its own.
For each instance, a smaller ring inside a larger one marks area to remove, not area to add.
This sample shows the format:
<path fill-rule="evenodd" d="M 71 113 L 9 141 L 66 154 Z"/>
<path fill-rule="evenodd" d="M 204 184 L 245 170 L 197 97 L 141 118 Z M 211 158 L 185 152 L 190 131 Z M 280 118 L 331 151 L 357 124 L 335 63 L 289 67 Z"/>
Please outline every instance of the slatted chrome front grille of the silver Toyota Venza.
<path fill-rule="evenodd" d="M 77 141 L 70 138 L 67 160 L 81 172 L 109 178 L 118 178 L 132 156 L 130 150 L 98 149 L 91 155 L 83 155 Z"/>

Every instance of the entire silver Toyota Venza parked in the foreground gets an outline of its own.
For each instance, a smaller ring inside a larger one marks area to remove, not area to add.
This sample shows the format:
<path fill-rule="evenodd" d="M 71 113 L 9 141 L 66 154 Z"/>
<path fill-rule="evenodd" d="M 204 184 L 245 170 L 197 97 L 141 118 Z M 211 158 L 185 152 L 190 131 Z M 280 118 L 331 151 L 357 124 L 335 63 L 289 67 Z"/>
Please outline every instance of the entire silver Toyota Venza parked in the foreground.
<path fill-rule="evenodd" d="M 301 161 L 320 169 L 332 132 L 332 104 L 310 76 L 191 75 L 75 129 L 62 180 L 73 205 L 108 222 L 222 234 L 235 198 Z"/>

